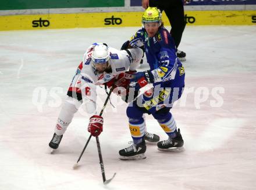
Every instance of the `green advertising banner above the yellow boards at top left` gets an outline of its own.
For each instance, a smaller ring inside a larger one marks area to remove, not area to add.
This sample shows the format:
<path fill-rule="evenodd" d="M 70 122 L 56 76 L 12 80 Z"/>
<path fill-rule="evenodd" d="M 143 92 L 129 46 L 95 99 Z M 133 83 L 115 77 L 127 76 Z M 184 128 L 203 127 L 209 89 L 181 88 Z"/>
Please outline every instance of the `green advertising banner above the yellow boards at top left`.
<path fill-rule="evenodd" d="M 123 7 L 125 0 L 12 0 L 0 1 L 0 10 Z"/>

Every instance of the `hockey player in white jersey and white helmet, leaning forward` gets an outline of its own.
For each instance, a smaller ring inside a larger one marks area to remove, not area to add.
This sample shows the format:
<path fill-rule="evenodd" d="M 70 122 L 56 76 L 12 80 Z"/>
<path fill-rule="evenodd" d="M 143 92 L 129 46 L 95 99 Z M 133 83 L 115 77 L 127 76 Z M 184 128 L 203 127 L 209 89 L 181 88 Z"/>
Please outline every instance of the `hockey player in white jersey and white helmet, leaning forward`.
<path fill-rule="evenodd" d="M 52 149 L 59 147 L 67 126 L 72 122 L 73 116 L 81 104 L 84 104 L 88 114 L 93 115 L 90 118 L 88 131 L 93 136 L 98 136 L 102 131 L 103 118 L 95 115 L 97 85 L 112 87 L 113 80 L 115 80 L 115 82 L 122 81 L 122 83 L 119 82 L 119 86 L 126 88 L 130 83 L 129 74 L 136 72 L 142 56 L 143 50 L 138 47 L 117 50 L 105 43 L 93 43 L 88 47 L 70 84 L 49 147 Z M 128 77 L 126 77 L 127 75 Z M 159 137 L 146 132 L 145 140 L 157 142 Z"/>

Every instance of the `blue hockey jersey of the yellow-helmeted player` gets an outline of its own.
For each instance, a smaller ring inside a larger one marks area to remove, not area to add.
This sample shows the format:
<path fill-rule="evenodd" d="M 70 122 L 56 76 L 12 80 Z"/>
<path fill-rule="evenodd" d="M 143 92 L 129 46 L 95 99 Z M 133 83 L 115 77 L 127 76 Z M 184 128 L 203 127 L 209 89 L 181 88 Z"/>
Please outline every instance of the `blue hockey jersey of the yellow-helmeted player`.
<path fill-rule="evenodd" d="M 184 87 L 184 68 L 177 59 L 175 42 L 166 28 L 159 28 L 152 38 L 148 37 L 145 28 L 141 28 L 131 37 L 130 45 L 144 45 L 147 61 L 154 76 L 154 86 L 161 84 L 162 87 Z"/>

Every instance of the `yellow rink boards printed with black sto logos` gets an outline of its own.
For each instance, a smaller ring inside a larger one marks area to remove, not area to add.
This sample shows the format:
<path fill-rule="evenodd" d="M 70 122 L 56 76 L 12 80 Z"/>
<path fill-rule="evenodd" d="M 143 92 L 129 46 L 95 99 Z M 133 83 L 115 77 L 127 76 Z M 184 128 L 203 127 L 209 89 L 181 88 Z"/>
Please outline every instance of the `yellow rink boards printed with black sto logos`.
<path fill-rule="evenodd" d="M 32 14 L 0 16 L 0 31 L 56 28 L 141 26 L 143 12 Z M 185 12 L 187 25 L 255 25 L 256 10 L 199 10 Z M 163 22 L 169 25 L 163 13 Z"/>

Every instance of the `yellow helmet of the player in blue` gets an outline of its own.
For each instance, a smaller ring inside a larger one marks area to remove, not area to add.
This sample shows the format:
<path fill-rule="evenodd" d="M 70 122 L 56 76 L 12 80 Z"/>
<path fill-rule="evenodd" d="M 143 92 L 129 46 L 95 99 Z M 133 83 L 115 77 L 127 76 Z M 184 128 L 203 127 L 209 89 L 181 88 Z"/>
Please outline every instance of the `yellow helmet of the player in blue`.
<path fill-rule="evenodd" d="M 142 23 L 162 23 L 162 13 L 156 7 L 148 7 L 142 16 Z"/>

